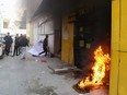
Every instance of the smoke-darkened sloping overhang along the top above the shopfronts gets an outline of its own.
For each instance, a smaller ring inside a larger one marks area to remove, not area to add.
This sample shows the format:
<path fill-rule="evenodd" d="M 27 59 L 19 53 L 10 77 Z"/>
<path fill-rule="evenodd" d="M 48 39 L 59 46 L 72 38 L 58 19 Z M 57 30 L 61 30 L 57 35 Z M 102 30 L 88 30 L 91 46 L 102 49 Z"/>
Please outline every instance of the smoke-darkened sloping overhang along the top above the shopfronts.
<path fill-rule="evenodd" d="M 108 9 L 111 0 L 43 0 L 34 16 L 42 13 L 64 13 L 85 8 L 91 12 L 95 9 Z"/>

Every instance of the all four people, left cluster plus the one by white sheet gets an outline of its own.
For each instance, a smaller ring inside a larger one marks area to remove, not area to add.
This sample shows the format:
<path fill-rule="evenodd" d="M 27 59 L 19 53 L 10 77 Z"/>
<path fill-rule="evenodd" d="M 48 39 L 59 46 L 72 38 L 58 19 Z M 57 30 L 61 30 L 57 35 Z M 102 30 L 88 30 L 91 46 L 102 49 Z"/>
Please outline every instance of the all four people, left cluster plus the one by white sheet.
<path fill-rule="evenodd" d="M 26 47 L 28 46 L 28 39 L 26 38 L 26 35 L 20 35 L 16 34 L 14 39 L 11 37 L 10 33 L 7 34 L 7 36 L 3 38 L 4 39 L 4 44 L 5 44 L 5 55 L 9 56 L 11 47 L 12 47 L 12 43 L 14 43 L 14 49 L 13 49 L 13 54 L 12 57 L 14 57 L 15 55 L 19 56 L 21 55 L 21 59 L 25 59 L 25 55 L 26 55 Z M 47 52 L 49 50 L 48 48 L 48 35 L 45 36 L 43 43 L 43 51 L 41 51 L 38 54 L 45 54 L 45 56 L 47 56 Z"/>

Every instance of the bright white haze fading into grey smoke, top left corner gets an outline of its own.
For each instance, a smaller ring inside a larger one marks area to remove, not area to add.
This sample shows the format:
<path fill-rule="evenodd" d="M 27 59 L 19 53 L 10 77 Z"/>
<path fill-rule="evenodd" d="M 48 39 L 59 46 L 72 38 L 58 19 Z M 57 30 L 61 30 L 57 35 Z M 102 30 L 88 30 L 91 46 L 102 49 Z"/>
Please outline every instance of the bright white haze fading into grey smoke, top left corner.
<path fill-rule="evenodd" d="M 0 12 L 11 22 L 31 19 L 43 0 L 0 0 Z"/>

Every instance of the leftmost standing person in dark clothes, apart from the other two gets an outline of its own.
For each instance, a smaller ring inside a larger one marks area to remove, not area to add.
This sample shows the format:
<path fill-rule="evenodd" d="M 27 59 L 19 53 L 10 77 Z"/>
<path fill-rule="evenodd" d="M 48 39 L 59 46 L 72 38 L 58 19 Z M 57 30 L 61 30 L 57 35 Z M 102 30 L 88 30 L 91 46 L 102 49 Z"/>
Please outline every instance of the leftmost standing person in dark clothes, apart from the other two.
<path fill-rule="evenodd" d="M 7 34 L 7 36 L 3 38 L 5 41 L 5 55 L 9 56 L 10 47 L 13 43 L 12 37 L 10 36 L 10 33 Z"/>

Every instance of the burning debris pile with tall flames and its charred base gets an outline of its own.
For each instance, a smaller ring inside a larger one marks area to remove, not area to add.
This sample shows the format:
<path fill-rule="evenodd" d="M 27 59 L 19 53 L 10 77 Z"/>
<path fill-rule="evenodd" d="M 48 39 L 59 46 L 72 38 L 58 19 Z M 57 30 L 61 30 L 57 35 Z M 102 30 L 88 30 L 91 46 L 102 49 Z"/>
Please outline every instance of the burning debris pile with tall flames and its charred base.
<path fill-rule="evenodd" d="M 102 47 L 100 46 L 94 51 L 94 66 L 92 67 L 93 73 L 86 76 L 85 79 L 81 79 L 73 88 L 79 93 L 90 92 L 93 87 L 99 88 L 104 83 L 105 73 L 109 70 L 109 61 L 111 58 L 107 55 L 104 55 Z"/>

